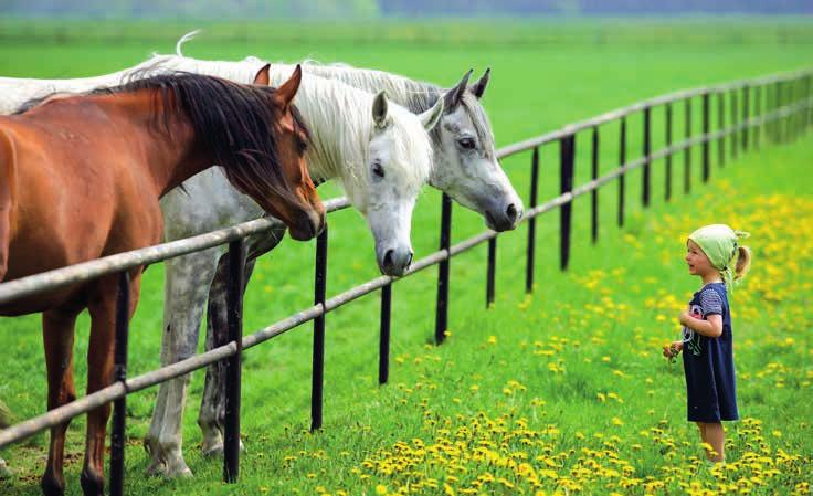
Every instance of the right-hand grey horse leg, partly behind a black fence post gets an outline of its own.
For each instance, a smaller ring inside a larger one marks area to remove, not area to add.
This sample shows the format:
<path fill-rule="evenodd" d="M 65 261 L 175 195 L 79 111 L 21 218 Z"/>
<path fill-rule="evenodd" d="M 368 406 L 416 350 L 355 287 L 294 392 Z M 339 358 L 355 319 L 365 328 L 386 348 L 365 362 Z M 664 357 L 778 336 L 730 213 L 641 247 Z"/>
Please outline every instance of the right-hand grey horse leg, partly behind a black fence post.
<path fill-rule="evenodd" d="M 218 263 L 218 273 L 209 291 L 209 308 L 207 319 L 207 350 L 214 348 L 215 342 L 225 342 L 229 339 L 229 324 L 226 319 L 226 284 L 229 281 L 229 255 L 225 254 Z M 249 260 L 244 268 L 244 285 L 249 284 L 254 271 L 255 260 Z M 207 368 L 207 379 L 203 386 L 203 398 L 198 414 L 198 425 L 203 431 L 203 454 L 214 456 L 223 453 L 223 425 L 225 422 L 225 369 L 224 362 L 212 363 Z M 243 450 L 243 442 L 240 442 Z"/>

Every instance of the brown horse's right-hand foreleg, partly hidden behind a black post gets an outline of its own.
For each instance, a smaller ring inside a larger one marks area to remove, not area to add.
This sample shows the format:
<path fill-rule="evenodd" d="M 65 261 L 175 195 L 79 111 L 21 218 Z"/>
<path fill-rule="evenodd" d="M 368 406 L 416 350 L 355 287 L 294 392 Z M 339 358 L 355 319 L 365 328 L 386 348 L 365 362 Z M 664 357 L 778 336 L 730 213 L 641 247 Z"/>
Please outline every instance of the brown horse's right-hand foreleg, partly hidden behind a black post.
<path fill-rule="evenodd" d="M 131 275 L 128 318 L 133 316 L 138 304 L 140 277 L 140 272 Z M 117 294 L 118 275 L 103 277 L 91 289 L 87 304 L 87 309 L 91 313 L 91 344 L 87 347 L 87 394 L 106 388 L 113 380 Z M 109 416 L 109 403 L 87 412 L 85 463 L 80 476 L 85 496 L 104 495 L 105 439 Z"/>

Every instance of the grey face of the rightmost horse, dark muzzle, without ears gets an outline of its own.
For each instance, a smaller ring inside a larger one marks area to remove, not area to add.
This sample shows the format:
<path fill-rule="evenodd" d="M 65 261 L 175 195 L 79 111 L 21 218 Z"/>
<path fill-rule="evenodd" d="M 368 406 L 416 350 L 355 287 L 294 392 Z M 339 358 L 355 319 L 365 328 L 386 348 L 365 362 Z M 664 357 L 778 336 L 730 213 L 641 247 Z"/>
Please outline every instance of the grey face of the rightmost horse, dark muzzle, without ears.
<path fill-rule="evenodd" d="M 522 200 L 499 167 L 494 144 L 483 143 L 465 104 L 447 109 L 439 133 L 441 147 L 435 157 L 439 163 L 432 170 L 430 183 L 484 215 L 488 228 L 514 229 L 522 214 Z"/>

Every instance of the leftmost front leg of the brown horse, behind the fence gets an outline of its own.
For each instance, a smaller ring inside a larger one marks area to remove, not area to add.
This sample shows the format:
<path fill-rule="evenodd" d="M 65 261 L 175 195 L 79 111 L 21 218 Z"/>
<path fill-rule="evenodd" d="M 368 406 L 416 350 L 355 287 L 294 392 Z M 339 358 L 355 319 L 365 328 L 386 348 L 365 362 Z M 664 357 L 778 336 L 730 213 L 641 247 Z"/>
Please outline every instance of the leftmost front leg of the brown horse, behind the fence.
<path fill-rule="evenodd" d="M 76 399 L 73 383 L 73 338 L 76 312 L 49 310 L 42 314 L 42 337 L 47 369 L 47 409 L 53 410 Z M 65 493 L 62 462 L 65 451 L 65 431 L 71 421 L 51 429 L 42 492 L 47 495 Z"/>

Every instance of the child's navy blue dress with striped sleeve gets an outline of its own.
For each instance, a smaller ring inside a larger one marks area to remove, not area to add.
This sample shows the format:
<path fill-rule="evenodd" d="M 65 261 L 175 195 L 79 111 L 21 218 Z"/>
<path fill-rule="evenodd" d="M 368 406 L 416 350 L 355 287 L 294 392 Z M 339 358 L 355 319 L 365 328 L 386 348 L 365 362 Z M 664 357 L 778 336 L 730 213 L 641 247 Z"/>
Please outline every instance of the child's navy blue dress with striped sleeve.
<path fill-rule="evenodd" d="M 707 284 L 695 293 L 689 306 L 690 314 L 704 320 L 712 314 L 721 315 L 722 335 L 708 338 L 684 327 L 683 366 L 688 420 L 709 423 L 738 420 L 731 313 L 726 285 Z"/>

